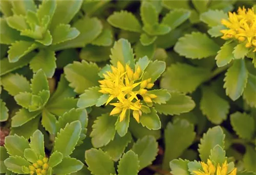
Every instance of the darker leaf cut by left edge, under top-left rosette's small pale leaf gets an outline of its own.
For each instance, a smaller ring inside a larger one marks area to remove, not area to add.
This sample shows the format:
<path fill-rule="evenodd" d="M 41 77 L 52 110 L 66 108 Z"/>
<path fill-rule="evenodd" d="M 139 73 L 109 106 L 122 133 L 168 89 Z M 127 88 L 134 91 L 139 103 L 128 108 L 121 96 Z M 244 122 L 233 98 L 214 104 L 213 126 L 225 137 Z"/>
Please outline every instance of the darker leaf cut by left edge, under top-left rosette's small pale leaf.
<path fill-rule="evenodd" d="M 4 4 L 4 2 L 2 2 L 1 5 L 2 4 Z M 0 43 L 2 44 L 11 44 L 22 39 L 18 31 L 8 26 L 5 18 L 0 19 L 0 37 Z"/>

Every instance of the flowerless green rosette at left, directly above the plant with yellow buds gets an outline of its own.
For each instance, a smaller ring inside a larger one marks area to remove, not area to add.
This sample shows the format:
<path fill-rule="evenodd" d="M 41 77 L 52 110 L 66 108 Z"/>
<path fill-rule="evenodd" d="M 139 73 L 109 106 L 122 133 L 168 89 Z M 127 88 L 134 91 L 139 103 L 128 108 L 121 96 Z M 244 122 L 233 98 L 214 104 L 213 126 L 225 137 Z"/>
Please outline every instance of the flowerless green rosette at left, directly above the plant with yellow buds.
<path fill-rule="evenodd" d="M 38 123 L 51 134 L 56 133 L 56 116 L 76 107 L 75 93 L 61 76 L 56 91 L 51 95 L 46 74 L 38 70 L 29 81 L 20 74 L 9 73 L 2 79 L 3 87 L 22 106 L 12 117 L 12 133 L 29 138 Z M 41 118 L 41 119 L 40 119 Z M 29 129 L 28 129 L 29 128 Z"/>

